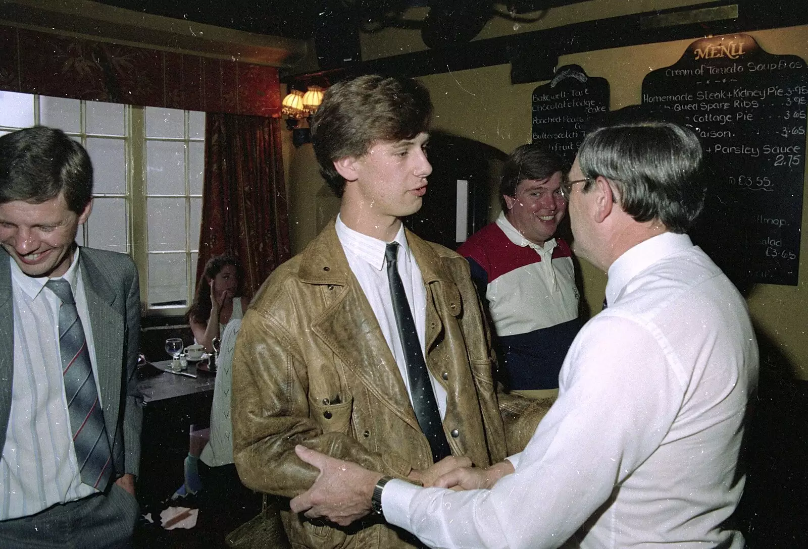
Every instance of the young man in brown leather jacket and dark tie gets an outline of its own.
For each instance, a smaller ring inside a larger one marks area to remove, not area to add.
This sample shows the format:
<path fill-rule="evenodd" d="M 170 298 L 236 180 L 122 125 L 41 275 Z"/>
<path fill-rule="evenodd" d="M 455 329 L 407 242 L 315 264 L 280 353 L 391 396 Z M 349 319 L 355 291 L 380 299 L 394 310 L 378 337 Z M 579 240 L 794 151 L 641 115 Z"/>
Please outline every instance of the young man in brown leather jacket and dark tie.
<path fill-rule="evenodd" d="M 453 467 L 488 467 L 521 450 L 546 410 L 497 392 L 465 259 L 402 226 L 427 190 L 430 118 L 423 85 L 376 75 L 335 84 L 314 115 L 321 173 L 343 201 L 336 220 L 267 279 L 242 322 L 234 459 L 250 488 L 284 497 L 309 488 L 318 470 L 297 458 L 297 444 L 430 485 Z M 411 377 L 389 279 L 396 268 L 426 382 Z M 422 396 L 442 429 L 424 423 Z M 377 517 L 357 518 L 343 528 L 283 513 L 295 547 L 418 547 Z"/>

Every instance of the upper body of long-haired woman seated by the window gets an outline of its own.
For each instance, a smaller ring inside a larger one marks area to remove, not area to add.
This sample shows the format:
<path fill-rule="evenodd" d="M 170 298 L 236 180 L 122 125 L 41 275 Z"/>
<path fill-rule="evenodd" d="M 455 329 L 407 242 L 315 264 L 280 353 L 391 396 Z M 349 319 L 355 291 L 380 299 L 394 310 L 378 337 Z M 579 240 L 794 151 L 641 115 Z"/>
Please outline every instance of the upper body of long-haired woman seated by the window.
<path fill-rule="evenodd" d="M 242 318 L 250 303 L 242 296 L 242 267 L 230 255 L 210 258 L 196 285 L 196 298 L 188 309 L 188 324 L 196 342 L 213 352 L 213 337 L 220 337 L 231 320 Z"/>

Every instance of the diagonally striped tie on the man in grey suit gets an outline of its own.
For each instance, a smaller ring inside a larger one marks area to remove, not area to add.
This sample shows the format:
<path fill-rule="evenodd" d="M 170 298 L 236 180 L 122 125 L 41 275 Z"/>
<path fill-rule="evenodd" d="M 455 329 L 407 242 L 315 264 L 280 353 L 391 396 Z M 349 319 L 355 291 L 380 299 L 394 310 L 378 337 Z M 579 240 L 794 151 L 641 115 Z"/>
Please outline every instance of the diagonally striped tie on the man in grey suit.
<path fill-rule="evenodd" d="M 61 300 L 59 351 L 73 446 L 82 483 L 103 490 L 112 475 L 112 454 L 82 320 L 78 317 L 73 291 L 65 279 L 48 280 L 45 286 Z"/>

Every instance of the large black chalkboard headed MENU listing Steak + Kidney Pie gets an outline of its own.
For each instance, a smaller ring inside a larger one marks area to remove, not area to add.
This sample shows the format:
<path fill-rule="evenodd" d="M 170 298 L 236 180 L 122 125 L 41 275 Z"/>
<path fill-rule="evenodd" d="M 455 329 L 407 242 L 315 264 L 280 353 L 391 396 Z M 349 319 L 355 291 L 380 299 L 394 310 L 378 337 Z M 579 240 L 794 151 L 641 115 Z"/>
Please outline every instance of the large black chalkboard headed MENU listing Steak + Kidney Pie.
<path fill-rule="evenodd" d="M 696 40 L 646 75 L 642 103 L 684 118 L 711 166 L 693 240 L 739 285 L 797 284 L 808 73 L 744 34 Z"/>

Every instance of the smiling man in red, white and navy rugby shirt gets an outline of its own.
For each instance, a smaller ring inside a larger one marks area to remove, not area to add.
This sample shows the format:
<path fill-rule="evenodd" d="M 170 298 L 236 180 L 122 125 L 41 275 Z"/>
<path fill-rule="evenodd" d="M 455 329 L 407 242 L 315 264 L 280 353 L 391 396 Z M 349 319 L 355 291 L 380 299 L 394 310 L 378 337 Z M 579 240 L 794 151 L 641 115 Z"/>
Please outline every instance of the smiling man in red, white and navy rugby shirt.
<path fill-rule="evenodd" d="M 457 252 L 497 334 L 500 378 L 524 396 L 558 395 L 558 372 L 581 327 L 572 253 L 555 238 L 566 213 L 562 161 L 541 145 L 521 145 L 500 180 L 499 218 Z"/>

